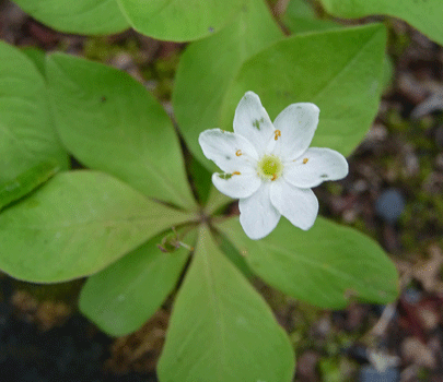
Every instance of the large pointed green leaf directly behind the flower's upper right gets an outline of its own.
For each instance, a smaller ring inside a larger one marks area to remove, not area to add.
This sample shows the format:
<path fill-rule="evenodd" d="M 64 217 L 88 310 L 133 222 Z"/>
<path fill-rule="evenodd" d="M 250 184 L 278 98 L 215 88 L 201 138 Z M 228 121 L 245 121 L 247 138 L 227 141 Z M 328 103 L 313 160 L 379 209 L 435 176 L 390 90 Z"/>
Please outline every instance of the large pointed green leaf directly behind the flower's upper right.
<path fill-rule="evenodd" d="M 224 97 L 222 126 L 247 91 L 273 119 L 293 103 L 320 109 L 313 146 L 349 155 L 361 142 L 380 103 L 386 31 L 381 24 L 295 35 L 245 62 Z"/>

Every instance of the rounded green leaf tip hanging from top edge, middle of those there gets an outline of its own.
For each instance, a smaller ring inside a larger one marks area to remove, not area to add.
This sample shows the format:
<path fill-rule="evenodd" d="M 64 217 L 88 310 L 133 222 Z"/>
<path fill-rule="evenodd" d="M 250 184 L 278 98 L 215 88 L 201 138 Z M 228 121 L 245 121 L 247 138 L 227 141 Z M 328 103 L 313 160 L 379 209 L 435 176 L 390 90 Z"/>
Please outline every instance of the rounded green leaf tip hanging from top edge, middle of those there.
<path fill-rule="evenodd" d="M 118 1 L 136 31 L 172 41 L 189 41 L 219 32 L 249 2 L 249 0 Z"/>

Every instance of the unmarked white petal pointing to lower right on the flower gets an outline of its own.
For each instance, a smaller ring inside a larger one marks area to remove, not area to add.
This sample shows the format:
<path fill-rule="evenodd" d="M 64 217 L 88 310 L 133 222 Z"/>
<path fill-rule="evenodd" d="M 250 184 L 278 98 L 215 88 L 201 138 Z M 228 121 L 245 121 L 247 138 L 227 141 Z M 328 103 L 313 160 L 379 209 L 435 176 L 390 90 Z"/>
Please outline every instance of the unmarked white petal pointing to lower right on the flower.
<path fill-rule="evenodd" d="M 318 201 L 311 189 L 299 189 L 281 179 L 271 183 L 275 207 L 295 227 L 310 229 L 318 214 Z"/>

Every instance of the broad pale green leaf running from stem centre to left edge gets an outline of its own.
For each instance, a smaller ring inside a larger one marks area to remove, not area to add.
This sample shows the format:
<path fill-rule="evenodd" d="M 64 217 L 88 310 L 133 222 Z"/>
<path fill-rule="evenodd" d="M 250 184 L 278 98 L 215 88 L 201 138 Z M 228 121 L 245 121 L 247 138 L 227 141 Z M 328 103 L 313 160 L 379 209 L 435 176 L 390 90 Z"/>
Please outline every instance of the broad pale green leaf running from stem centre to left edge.
<path fill-rule="evenodd" d="M 103 172 L 58 174 L 0 214 L 0 268 L 37 283 L 91 275 L 191 218 Z"/>

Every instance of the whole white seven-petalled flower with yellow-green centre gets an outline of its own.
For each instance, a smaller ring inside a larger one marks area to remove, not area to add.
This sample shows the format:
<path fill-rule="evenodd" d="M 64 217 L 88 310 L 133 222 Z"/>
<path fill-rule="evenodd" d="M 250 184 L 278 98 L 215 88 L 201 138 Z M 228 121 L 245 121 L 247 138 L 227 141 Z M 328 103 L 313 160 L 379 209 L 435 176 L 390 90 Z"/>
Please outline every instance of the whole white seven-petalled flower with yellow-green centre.
<path fill-rule="evenodd" d="M 308 148 L 318 123 L 314 104 L 292 104 L 272 122 L 260 98 L 247 92 L 235 110 L 234 132 L 203 131 L 198 141 L 207 158 L 224 174 L 215 188 L 240 199 L 240 223 L 252 239 L 261 239 L 283 215 L 310 229 L 318 213 L 311 188 L 348 175 L 348 163 L 330 148 Z"/>

